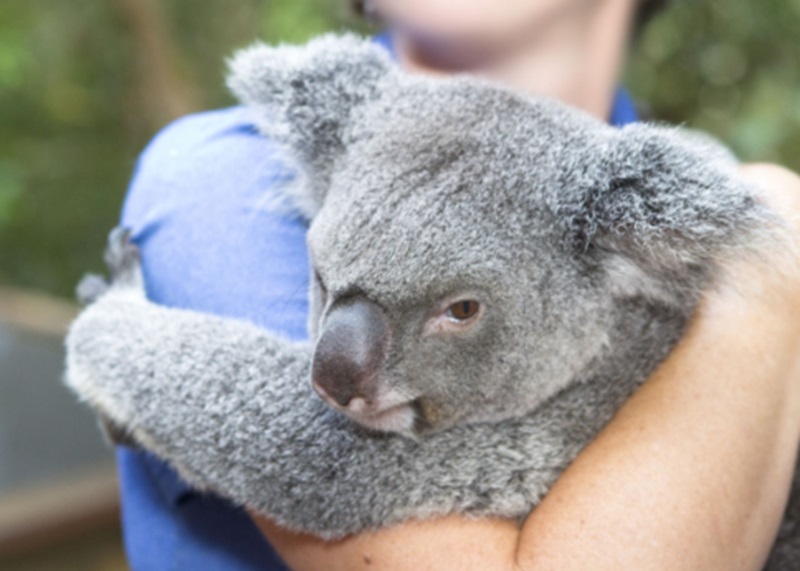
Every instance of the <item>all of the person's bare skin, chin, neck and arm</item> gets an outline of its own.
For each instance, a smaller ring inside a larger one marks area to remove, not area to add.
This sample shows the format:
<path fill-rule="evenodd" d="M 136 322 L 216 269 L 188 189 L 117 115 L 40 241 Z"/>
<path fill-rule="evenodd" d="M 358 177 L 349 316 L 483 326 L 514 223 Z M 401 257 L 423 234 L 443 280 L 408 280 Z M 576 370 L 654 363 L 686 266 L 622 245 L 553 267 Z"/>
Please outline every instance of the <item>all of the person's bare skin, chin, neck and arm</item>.
<path fill-rule="evenodd" d="M 376 0 L 408 71 L 470 72 L 606 118 L 633 0 Z M 538 30 L 537 33 L 531 33 Z M 800 178 L 748 165 L 800 239 Z M 292 569 L 760 569 L 800 442 L 793 252 L 728 268 L 683 342 L 521 527 L 451 516 L 328 543 L 255 521 Z"/>

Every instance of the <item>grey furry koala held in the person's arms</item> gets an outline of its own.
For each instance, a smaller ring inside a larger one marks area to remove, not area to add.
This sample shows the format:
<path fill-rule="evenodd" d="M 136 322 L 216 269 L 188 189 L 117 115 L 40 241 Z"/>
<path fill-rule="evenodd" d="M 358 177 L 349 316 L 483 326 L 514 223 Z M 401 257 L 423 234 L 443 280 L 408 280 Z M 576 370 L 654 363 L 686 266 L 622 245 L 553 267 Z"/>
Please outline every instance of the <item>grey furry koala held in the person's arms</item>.
<path fill-rule="evenodd" d="M 311 342 L 148 302 L 116 230 L 66 382 L 115 437 L 289 529 L 523 518 L 721 264 L 780 240 L 704 136 L 408 75 L 354 36 L 256 45 L 229 85 L 298 173 Z"/>

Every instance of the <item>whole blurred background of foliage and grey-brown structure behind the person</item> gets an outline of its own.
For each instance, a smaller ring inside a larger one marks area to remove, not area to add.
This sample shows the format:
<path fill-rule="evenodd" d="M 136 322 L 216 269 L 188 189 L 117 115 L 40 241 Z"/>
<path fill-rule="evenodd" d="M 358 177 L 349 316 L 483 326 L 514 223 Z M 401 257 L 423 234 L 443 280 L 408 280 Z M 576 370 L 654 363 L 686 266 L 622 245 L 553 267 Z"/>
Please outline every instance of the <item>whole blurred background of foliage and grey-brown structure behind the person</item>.
<path fill-rule="evenodd" d="M 138 153 L 233 104 L 236 48 L 344 28 L 369 31 L 332 0 L 0 2 L 0 569 L 125 569 L 111 453 L 59 377 Z M 648 116 L 800 171 L 799 32 L 800 0 L 675 0 L 625 83 Z"/>

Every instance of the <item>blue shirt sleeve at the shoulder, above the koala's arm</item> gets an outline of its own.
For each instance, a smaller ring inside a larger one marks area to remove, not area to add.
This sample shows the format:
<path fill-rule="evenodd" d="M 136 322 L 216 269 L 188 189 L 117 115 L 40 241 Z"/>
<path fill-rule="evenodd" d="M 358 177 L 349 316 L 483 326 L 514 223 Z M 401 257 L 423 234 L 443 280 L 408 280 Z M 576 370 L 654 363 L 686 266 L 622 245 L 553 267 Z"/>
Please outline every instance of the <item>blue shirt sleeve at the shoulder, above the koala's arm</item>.
<path fill-rule="evenodd" d="M 306 336 L 306 224 L 278 210 L 291 176 L 244 108 L 165 129 L 142 154 L 122 214 L 153 301 Z"/>

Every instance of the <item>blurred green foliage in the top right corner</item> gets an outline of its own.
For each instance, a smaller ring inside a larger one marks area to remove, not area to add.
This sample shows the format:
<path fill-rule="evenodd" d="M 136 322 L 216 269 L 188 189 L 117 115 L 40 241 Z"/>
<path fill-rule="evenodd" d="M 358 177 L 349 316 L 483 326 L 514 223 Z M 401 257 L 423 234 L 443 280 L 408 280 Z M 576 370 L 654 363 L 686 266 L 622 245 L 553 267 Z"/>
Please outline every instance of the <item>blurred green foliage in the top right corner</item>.
<path fill-rule="evenodd" d="M 642 38 L 627 83 L 655 118 L 800 170 L 798 29 L 800 0 L 676 1 Z"/>

